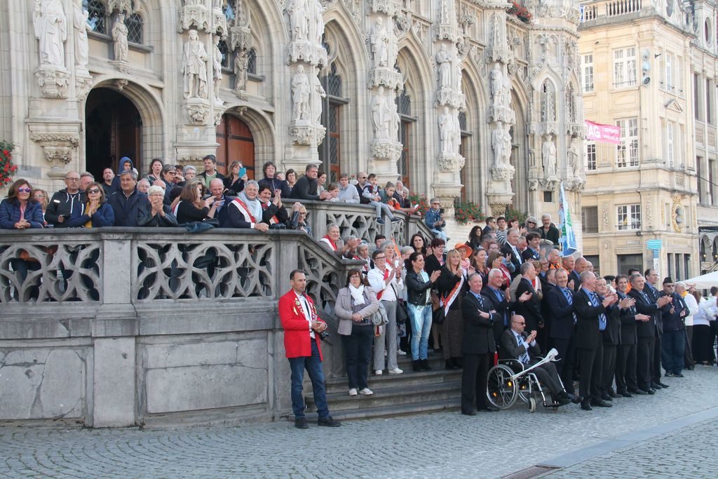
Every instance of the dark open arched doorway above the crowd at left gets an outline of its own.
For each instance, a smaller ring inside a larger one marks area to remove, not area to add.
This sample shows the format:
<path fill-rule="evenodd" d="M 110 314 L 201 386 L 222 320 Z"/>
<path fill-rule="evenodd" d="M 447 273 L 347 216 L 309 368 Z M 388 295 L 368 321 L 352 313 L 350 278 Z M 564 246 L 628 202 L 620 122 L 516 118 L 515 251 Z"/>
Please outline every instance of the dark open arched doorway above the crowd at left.
<path fill-rule="evenodd" d="M 98 181 L 107 167 L 129 157 L 141 164 L 142 118 L 129 98 L 111 88 L 94 88 L 85 103 L 85 169 Z"/>

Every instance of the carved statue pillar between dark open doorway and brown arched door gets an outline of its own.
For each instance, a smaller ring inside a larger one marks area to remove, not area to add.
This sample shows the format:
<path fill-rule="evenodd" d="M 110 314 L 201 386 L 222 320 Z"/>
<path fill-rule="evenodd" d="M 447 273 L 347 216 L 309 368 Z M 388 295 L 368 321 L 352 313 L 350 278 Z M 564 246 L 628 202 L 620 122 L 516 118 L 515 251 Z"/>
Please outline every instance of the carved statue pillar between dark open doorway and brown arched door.
<path fill-rule="evenodd" d="M 225 107 L 215 95 L 214 58 L 217 42 L 227 37 L 227 22 L 212 0 L 185 1 L 178 32 L 182 35 L 178 84 L 184 121 L 177 126 L 174 151 L 178 162 L 197 164 L 218 146 L 216 127 Z"/>

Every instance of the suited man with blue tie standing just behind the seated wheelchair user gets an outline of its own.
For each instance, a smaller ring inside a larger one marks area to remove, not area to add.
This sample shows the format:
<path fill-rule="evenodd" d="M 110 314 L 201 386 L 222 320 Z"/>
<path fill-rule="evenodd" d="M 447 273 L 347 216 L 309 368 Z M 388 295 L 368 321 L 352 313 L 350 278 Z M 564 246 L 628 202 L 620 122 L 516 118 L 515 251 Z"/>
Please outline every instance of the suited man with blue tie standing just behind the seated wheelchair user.
<path fill-rule="evenodd" d="M 567 286 L 569 275 L 565 269 L 552 269 L 556 271 L 556 287 L 544 295 L 547 310 L 551 317 L 551 348 L 559 352 L 556 368 L 559 370 L 561 381 L 569 393 L 574 392 L 573 373 L 574 355 L 576 346 L 574 335 L 576 331 L 576 316 L 574 315 L 574 292 Z"/>

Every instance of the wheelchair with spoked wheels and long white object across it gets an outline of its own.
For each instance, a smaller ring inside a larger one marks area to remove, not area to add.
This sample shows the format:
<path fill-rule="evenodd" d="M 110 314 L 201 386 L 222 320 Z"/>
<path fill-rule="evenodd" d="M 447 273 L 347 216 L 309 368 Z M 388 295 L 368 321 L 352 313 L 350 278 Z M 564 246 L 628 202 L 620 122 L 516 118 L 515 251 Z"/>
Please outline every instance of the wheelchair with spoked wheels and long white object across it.
<path fill-rule="evenodd" d="M 557 409 L 559 404 L 551 400 L 550 393 L 544 392 L 541 382 L 538 381 L 533 369 L 541 364 L 553 361 L 556 358 L 556 350 L 552 349 L 538 363 L 526 367 L 516 359 L 500 359 L 498 364 L 491 368 L 488 373 L 486 386 L 486 397 L 490 404 L 498 409 L 509 409 L 521 399 L 528 405 L 528 410 L 536 412 L 538 401 L 547 409 Z M 559 378 L 561 381 L 561 378 Z M 563 383 L 561 383 L 563 386 Z"/>

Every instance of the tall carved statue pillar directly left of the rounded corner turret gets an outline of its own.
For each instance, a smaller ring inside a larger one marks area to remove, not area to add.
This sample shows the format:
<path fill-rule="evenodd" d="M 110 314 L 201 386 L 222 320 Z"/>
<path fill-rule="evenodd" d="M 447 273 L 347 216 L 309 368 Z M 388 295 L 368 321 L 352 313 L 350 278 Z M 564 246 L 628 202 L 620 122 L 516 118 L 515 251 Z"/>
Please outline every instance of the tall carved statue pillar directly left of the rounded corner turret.
<path fill-rule="evenodd" d="M 513 61 L 513 52 L 506 41 L 505 9 L 510 6 L 491 5 L 485 12 L 490 19 L 491 37 L 486 52 L 488 63 L 488 85 L 491 93 L 491 104 L 488 111 L 489 129 L 491 131 L 491 177 L 488 185 L 488 203 L 491 213 L 503 214 L 507 205 L 512 203 L 513 191 L 511 180 L 515 169 L 510 163 L 511 157 L 511 125 L 516 123 L 516 113 L 511 108 L 511 82 L 508 64 Z"/>

